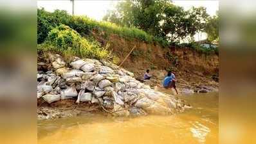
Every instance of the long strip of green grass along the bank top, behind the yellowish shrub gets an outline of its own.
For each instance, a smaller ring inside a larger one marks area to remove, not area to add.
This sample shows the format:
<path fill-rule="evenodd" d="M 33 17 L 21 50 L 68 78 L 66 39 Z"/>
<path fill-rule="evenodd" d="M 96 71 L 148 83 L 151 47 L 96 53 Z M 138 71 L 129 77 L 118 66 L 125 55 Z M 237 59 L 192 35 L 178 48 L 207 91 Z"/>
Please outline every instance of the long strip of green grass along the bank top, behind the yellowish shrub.
<path fill-rule="evenodd" d="M 90 35 L 91 33 L 116 34 L 127 40 L 136 38 L 144 42 L 157 42 L 160 45 L 164 43 L 160 38 L 149 35 L 137 28 L 118 26 L 111 22 L 98 22 L 86 16 L 71 16 L 63 10 L 55 10 L 55 12 L 50 13 L 46 12 L 43 8 L 37 10 L 37 43 L 41 44 L 44 42 L 50 30 L 60 24 L 69 26 L 82 36 Z"/>

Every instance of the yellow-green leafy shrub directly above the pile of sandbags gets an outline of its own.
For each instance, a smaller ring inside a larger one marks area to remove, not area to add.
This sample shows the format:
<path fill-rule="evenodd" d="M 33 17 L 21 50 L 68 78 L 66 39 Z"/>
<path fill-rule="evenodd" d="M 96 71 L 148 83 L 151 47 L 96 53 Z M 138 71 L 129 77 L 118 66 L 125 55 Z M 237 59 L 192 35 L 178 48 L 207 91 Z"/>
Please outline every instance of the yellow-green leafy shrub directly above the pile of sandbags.
<path fill-rule="evenodd" d="M 98 42 L 89 42 L 64 24 L 51 29 L 46 41 L 38 46 L 38 50 L 96 59 L 106 58 L 109 54 Z"/>

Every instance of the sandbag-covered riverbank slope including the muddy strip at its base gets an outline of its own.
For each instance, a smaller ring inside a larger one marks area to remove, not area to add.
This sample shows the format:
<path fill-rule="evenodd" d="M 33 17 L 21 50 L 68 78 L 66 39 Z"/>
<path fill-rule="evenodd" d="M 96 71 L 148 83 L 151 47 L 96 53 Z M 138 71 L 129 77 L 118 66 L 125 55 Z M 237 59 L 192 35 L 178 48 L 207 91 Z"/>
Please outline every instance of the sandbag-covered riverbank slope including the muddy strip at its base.
<path fill-rule="evenodd" d="M 134 74 L 113 63 L 62 58 L 46 53 L 38 58 L 38 118 L 105 113 L 112 116 L 172 115 L 188 108 L 174 95 L 153 90 Z"/>

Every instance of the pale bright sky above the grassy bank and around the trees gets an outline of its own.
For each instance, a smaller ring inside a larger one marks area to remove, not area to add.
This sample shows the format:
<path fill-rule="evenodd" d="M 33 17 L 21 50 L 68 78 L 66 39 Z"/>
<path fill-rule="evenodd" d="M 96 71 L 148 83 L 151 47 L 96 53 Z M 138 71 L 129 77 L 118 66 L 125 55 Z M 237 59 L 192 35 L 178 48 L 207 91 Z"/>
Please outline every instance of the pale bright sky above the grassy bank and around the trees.
<path fill-rule="evenodd" d="M 185 10 L 190 9 L 192 6 L 199 7 L 204 6 L 206 12 L 209 15 L 215 15 L 219 10 L 219 1 L 172 1 L 178 6 L 182 6 Z M 87 15 L 96 20 L 102 20 L 107 10 L 113 10 L 118 1 L 108 0 L 75 0 L 75 15 Z M 44 8 L 49 12 L 53 12 L 56 9 L 66 10 L 68 13 L 72 13 L 71 1 L 50 1 L 39 0 L 37 1 L 38 8 Z M 205 33 L 197 34 L 196 40 L 203 40 L 206 38 Z"/>

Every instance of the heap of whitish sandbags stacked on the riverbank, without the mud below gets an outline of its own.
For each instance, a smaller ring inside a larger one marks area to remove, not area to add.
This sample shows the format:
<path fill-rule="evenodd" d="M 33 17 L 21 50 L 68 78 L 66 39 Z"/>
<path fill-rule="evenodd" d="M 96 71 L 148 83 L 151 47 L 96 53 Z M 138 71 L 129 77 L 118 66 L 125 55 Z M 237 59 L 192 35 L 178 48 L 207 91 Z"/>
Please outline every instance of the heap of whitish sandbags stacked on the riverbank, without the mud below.
<path fill-rule="evenodd" d="M 80 58 L 66 63 L 58 54 L 49 54 L 48 58 L 50 69 L 37 72 L 37 99 L 49 104 L 75 99 L 77 104 L 99 104 L 118 116 L 163 115 L 183 109 L 179 100 L 155 92 L 113 63 Z"/>

